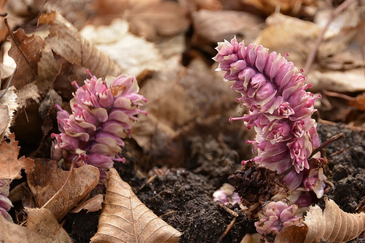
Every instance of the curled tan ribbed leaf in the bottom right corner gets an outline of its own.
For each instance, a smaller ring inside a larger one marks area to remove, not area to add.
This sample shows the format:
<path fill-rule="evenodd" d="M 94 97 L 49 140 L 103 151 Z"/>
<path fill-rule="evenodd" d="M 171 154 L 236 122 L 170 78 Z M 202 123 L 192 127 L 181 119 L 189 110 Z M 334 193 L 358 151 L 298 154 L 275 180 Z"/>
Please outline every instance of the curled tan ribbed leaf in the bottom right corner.
<path fill-rule="evenodd" d="M 326 207 L 310 206 L 304 216 L 303 227 L 284 228 L 275 242 L 347 242 L 365 230 L 365 213 L 346 213 L 331 199 L 325 198 Z M 293 241 L 294 240 L 294 241 Z"/>

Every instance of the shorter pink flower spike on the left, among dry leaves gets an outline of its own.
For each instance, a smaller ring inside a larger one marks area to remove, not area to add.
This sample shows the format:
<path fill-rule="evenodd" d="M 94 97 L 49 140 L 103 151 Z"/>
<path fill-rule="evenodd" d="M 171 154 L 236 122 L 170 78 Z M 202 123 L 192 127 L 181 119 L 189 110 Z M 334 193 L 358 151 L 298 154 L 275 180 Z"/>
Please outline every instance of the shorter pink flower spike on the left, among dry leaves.
<path fill-rule="evenodd" d="M 118 154 L 122 151 L 126 138 L 131 133 L 131 124 L 137 120 L 141 101 L 147 101 L 138 94 L 139 87 L 133 76 L 107 76 L 105 80 L 86 72 L 90 79 L 85 85 L 77 87 L 70 101 L 72 114 L 55 105 L 60 134 L 51 134 L 53 143 L 51 157 L 54 160 L 64 158 L 72 161 L 76 157 L 76 166 L 85 164 L 100 169 L 100 180 L 105 170 L 111 168 L 114 161 L 125 162 Z"/>

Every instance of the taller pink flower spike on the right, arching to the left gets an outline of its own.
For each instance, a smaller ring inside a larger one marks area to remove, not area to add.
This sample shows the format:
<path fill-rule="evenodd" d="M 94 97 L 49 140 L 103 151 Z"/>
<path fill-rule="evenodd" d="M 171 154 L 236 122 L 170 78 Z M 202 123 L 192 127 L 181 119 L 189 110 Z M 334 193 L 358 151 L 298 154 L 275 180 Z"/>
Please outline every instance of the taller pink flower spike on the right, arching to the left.
<path fill-rule="evenodd" d="M 254 141 L 246 141 L 254 145 L 252 152 L 258 151 L 252 161 L 285 174 L 285 184 L 293 194 L 289 196 L 291 204 L 310 205 L 311 196 L 322 197 L 326 187 L 323 171 L 309 160 L 320 145 L 311 115 L 316 111 L 314 101 L 321 96 L 306 91 L 311 84 L 285 59 L 288 54 L 269 53 L 257 44 L 245 46 L 236 38 L 218 43 L 216 50 L 216 71 L 226 71 L 226 81 L 234 81 L 231 89 L 241 93 L 236 101 L 249 107 L 248 114 L 229 121 L 242 120 L 247 129 L 257 132 Z"/>

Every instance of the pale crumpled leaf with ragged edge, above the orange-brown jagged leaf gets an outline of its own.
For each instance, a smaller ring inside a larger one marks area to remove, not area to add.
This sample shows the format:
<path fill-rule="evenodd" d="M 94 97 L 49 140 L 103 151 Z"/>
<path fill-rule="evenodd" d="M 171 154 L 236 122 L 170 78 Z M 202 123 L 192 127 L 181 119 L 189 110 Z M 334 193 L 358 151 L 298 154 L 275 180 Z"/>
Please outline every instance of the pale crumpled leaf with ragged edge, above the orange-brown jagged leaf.
<path fill-rule="evenodd" d="M 0 95 L 5 91 L 0 90 Z M 16 100 L 16 89 L 14 86 L 9 87 L 6 94 L 0 99 L 0 138 L 10 134 L 9 127 L 13 122 L 14 112 L 18 109 Z M 1 143 L 1 141 L 0 141 Z"/>

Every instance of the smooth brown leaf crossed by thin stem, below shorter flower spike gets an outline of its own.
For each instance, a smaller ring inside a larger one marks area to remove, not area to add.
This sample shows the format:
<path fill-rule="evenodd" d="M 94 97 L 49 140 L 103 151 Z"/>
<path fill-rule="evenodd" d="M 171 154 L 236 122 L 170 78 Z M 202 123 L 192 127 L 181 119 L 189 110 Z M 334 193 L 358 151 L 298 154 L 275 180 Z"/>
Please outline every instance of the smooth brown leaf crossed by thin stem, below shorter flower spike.
<path fill-rule="evenodd" d="M 41 208 L 65 183 L 68 171 L 57 168 L 57 161 L 36 159 L 34 172 L 27 176 L 37 207 Z M 99 182 L 99 169 L 92 165 L 74 168 L 65 188 L 52 199 L 48 208 L 59 221 Z"/>

